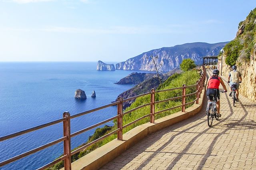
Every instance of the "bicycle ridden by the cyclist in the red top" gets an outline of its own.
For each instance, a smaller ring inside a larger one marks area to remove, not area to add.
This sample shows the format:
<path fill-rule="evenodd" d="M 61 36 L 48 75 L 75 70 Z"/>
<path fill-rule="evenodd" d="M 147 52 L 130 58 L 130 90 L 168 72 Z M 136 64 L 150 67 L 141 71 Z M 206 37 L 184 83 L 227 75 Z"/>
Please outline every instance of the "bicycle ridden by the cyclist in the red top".
<path fill-rule="evenodd" d="M 222 93 L 227 92 L 227 91 L 220 91 Z M 216 112 L 217 112 L 217 106 L 216 106 L 216 98 L 217 96 L 214 95 L 210 95 L 213 97 L 212 101 L 208 101 L 207 102 L 207 107 L 206 107 L 206 115 L 207 115 L 207 123 L 208 126 L 211 127 L 212 126 L 212 122 L 213 119 L 215 118 L 216 120 L 219 119 L 219 117 L 217 116 Z"/>

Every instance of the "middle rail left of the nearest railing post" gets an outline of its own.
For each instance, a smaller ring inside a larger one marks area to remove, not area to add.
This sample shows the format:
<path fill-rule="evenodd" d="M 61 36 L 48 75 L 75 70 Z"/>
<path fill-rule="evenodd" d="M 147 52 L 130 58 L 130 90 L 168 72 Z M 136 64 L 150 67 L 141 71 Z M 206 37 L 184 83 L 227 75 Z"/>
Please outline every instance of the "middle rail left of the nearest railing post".
<path fill-rule="evenodd" d="M 17 155 L 17 156 L 14 156 L 14 157 L 12 157 L 12 158 L 10 158 L 10 159 L 4 160 L 4 161 L 0 162 L 0 166 L 9 164 L 9 163 L 11 163 L 11 162 L 14 162 L 15 160 L 18 160 L 18 159 L 20 159 L 20 158 L 23 158 L 23 157 L 25 157 L 25 156 L 28 156 L 28 155 L 30 155 L 30 154 L 33 154 L 34 152 L 38 152 L 39 150 L 45 149 L 45 148 L 47 148 L 47 147 L 50 147 L 50 146 L 52 146 L 52 145 L 54 145 L 54 144 L 56 144 L 56 143 L 60 143 L 60 142 L 62 142 L 62 141 L 64 141 L 64 140 L 66 140 L 66 139 L 68 139 L 68 137 L 66 137 L 66 136 L 65 136 L 65 137 L 62 137 L 62 138 L 60 138 L 60 139 L 57 139 L 57 140 L 55 140 L 55 141 L 52 141 L 52 142 L 47 143 L 47 144 L 45 144 L 45 145 L 42 145 L 41 147 L 37 147 L 37 148 L 35 148 L 35 149 L 29 150 L 28 152 L 24 152 L 24 153 L 22 153 L 22 154 L 19 154 L 19 155 Z"/>

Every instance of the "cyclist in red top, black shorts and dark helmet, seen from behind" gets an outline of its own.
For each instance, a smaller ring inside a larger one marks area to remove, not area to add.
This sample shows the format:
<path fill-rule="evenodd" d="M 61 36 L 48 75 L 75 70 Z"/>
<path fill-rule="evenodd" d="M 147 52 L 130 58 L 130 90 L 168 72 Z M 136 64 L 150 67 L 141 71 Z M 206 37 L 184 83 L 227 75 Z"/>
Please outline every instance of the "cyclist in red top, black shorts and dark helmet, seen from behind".
<path fill-rule="evenodd" d="M 220 71 L 215 69 L 212 71 L 212 76 L 208 79 L 207 84 L 206 84 L 206 95 L 208 97 L 209 100 L 213 100 L 212 96 L 210 95 L 214 95 L 216 96 L 216 107 L 217 107 L 217 116 L 221 117 L 220 114 L 220 91 L 219 91 L 219 86 L 220 84 L 222 85 L 222 87 L 224 88 L 224 90 L 227 92 L 227 88 L 222 80 L 221 77 L 219 77 Z"/>

